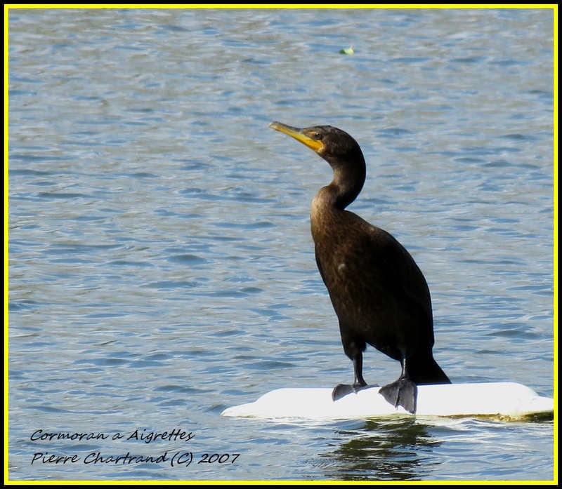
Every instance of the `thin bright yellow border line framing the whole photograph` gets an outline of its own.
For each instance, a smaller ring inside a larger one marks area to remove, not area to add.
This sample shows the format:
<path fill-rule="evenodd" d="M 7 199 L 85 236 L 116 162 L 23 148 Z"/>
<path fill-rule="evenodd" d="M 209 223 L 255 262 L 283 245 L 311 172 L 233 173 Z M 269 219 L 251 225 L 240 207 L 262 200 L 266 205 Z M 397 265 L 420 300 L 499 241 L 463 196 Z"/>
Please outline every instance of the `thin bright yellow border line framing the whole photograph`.
<path fill-rule="evenodd" d="M 553 481 L 10 481 L 8 478 L 8 13 L 14 9 L 34 8 L 315 8 L 324 7 L 311 4 L 91 4 L 91 5 L 4 5 L 4 484 L 5 485 L 531 485 L 558 484 L 558 5 L 557 4 L 348 4 L 333 5 L 329 8 L 514 8 L 514 9 L 552 9 L 554 13 L 554 479 Z"/>

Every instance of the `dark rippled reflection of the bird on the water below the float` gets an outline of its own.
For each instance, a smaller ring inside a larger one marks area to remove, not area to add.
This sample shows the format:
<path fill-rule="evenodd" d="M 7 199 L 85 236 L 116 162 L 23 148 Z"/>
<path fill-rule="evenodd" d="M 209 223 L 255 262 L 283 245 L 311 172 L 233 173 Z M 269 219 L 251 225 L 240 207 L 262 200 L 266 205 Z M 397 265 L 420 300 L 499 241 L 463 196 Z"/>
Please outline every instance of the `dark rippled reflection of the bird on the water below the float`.
<path fill-rule="evenodd" d="M 344 442 L 322 454 L 331 459 L 326 476 L 344 481 L 418 480 L 431 478 L 425 453 L 440 445 L 427 426 L 403 418 L 393 422 L 367 421 L 355 430 L 341 430 Z"/>

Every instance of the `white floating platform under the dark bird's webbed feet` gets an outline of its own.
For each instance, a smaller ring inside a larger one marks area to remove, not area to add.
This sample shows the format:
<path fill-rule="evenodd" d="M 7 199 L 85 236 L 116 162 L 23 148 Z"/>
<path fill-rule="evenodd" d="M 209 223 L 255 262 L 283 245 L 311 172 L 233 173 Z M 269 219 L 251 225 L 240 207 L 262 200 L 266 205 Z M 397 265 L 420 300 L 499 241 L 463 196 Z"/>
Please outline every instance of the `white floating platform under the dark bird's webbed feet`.
<path fill-rule="evenodd" d="M 554 413 L 554 399 L 541 397 L 516 382 L 420 385 L 416 415 L 506 417 L 521 419 Z M 412 416 L 379 395 L 379 387 L 363 389 L 332 401 L 332 389 L 276 389 L 254 403 L 234 406 L 223 416 L 261 419 L 349 420 L 391 415 Z"/>

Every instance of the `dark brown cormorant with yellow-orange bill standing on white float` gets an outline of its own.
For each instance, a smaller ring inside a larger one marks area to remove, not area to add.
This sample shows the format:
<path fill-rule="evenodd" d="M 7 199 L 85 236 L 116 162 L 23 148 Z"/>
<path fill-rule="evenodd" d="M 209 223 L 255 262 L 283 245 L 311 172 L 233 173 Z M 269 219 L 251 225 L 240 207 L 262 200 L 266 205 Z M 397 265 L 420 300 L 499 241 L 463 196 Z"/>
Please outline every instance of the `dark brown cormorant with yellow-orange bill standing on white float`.
<path fill-rule="evenodd" d="M 402 373 L 379 391 L 395 407 L 415 413 L 417 384 L 450 384 L 433 359 L 433 314 L 426 279 L 407 250 L 388 232 L 345 210 L 365 183 L 365 159 L 348 133 L 332 126 L 294 128 L 272 122 L 313 149 L 334 171 L 311 205 L 316 264 L 339 320 L 355 382 L 339 384 L 334 401 L 370 387 L 362 375 L 367 344 L 400 361 Z"/>

